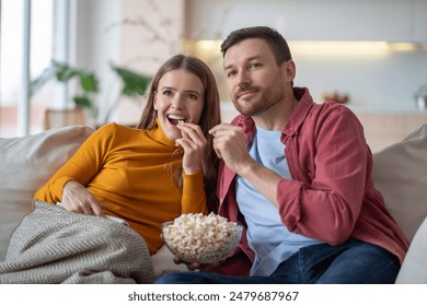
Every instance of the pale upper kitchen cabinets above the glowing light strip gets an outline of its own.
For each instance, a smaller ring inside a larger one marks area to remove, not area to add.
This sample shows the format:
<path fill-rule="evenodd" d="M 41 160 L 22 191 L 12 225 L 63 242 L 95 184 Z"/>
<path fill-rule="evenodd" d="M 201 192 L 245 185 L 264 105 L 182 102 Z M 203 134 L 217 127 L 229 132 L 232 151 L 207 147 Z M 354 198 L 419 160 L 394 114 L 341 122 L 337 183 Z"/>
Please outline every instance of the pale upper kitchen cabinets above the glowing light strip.
<path fill-rule="evenodd" d="M 187 0 L 186 37 L 268 25 L 289 40 L 427 42 L 425 0 Z"/>

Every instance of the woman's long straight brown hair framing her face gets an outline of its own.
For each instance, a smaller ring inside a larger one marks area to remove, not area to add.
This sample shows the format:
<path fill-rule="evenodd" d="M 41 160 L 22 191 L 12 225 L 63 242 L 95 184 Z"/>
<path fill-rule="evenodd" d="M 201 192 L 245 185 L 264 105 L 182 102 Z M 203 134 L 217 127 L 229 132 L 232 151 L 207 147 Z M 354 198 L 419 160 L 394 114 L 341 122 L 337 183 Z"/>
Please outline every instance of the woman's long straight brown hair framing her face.
<path fill-rule="evenodd" d="M 205 193 L 208 209 L 215 211 L 218 204 L 216 196 L 217 177 L 218 177 L 218 157 L 214 151 L 214 139 L 209 134 L 209 130 L 221 122 L 220 113 L 220 98 L 215 80 L 214 73 L 209 67 L 198 58 L 192 56 L 176 55 L 164 62 L 154 78 L 151 81 L 148 92 L 148 98 L 146 107 L 142 111 L 141 119 L 137 125 L 138 129 L 152 130 L 157 128 L 157 114 L 154 110 L 154 94 L 159 80 L 169 71 L 172 70 L 185 70 L 198 79 L 200 79 L 205 87 L 204 108 L 201 111 L 199 126 L 207 139 L 205 155 L 201 161 L 204 179 L 205 179 Z M 181 172 L 180 172 L 181 174 Z M 181 179 L 181 177 L 180 177 Z"/>

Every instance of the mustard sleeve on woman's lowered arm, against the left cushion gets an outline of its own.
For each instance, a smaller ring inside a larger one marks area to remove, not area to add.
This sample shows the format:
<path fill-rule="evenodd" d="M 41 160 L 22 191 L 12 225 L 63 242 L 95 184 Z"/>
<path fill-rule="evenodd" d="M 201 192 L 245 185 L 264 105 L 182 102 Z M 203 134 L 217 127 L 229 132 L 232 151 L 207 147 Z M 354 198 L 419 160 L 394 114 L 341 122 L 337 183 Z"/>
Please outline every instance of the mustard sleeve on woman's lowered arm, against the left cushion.
<path fill-rule="evenodd" d="M 34 195 L 34 199 L 56 203 L 61 201 L 64 186 L 76 180 L 83 186 L 99 173 L 109 144 L 114 138 L 114 126 L 106 125 L 90 136 L 74 155 Z"/>

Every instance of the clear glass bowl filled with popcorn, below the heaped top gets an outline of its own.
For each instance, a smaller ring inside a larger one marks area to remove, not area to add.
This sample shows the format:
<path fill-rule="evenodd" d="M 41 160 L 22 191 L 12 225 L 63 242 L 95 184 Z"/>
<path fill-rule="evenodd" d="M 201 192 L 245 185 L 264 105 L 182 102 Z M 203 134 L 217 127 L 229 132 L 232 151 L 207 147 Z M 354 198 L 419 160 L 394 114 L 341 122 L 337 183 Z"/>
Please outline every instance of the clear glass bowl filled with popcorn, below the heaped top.
<path fill-rule="evenodd" d="M 243 226 L 182 226 L 173 221 L 161 226 L 168 248 L 185 262 L 211 263 L 226 259 L 239 245 Z"/>

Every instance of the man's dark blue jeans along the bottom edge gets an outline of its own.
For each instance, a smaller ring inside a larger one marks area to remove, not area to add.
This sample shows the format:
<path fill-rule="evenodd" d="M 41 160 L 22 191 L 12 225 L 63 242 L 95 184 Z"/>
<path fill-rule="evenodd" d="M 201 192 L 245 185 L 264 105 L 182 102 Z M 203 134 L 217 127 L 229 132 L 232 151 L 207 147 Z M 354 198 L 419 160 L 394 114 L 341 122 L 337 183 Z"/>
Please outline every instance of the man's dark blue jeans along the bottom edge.
<path fill-rule="evenodd" d="M 208 272 L 170 272 L 157 284 L 390 284 L 401 264 L 388 250 L 357 239 L 341 246 L 301 248 L 269 276 L 228 276 Z"/>

